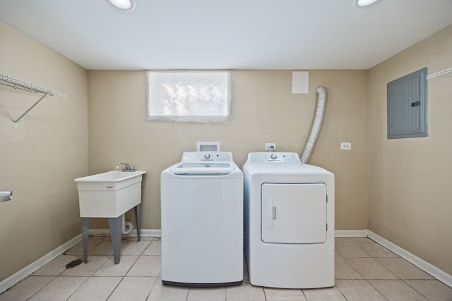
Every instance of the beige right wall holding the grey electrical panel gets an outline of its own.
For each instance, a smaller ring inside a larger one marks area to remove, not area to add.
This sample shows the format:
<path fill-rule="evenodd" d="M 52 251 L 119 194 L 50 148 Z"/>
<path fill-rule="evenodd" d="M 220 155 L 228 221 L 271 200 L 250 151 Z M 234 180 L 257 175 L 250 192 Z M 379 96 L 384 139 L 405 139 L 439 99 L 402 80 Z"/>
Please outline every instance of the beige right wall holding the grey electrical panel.
<path fill-rule="evenodd" d="M 452 67 L 452 26 L 369 71 L 370 230 L 452 274 L 452 78 L 428 80 L 428 137 L 386 139 L 386 84 Z"/>

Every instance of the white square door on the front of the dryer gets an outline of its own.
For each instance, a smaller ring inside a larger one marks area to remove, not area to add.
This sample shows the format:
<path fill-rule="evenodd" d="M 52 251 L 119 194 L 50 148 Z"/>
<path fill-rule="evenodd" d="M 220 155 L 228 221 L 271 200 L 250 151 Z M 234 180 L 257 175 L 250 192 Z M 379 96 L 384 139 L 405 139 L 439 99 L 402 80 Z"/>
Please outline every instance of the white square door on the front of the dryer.
<path fill-rule="evenodd" d="M 261 239 L 273 243 L 326 242 L 325 183 L 264 183 Z"/>

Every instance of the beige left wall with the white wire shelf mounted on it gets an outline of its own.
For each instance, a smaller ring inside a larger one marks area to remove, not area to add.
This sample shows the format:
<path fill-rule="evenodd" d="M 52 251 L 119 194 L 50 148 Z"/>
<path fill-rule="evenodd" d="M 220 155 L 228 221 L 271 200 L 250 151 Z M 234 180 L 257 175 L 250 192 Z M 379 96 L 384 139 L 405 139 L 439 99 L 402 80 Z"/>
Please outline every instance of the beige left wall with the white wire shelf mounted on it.
<path fill-rule="evenodd" d="M 0 73 L 67 98 L 0 85 L 0 281 L 81 233 L 73 179 L 88 170 L 88 74 L 57 52 L 0 21 Z"/>

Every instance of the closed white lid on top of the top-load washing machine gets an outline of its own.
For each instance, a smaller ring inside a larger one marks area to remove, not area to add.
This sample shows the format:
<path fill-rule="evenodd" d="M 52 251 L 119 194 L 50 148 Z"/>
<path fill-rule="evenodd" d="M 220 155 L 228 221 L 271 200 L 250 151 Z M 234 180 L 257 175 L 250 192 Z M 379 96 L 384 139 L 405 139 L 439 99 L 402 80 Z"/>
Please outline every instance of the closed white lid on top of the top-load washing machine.
<path fill-rule="evenodd" d="M 176 175 L 227 175 L 234 171 L 232 162 L 181 162 L 171 168 Z"/>

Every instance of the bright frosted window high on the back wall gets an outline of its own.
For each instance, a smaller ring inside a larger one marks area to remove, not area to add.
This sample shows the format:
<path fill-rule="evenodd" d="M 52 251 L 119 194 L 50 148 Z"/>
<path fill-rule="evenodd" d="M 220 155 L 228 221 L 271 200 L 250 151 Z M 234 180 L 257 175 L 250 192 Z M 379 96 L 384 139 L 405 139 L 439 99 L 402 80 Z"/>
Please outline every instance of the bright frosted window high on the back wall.
<path fill-rule="evenodd" d="M 230 73 L 148 71 L 148 120 L 227 123 Z"/>

